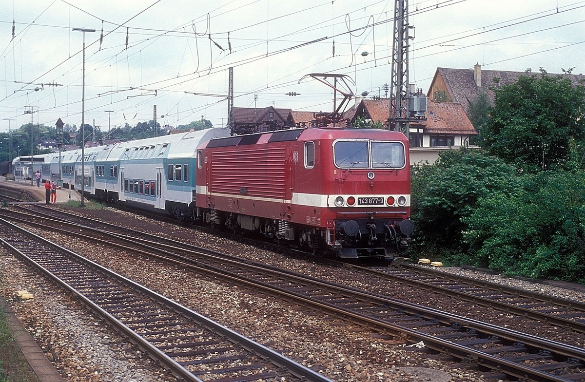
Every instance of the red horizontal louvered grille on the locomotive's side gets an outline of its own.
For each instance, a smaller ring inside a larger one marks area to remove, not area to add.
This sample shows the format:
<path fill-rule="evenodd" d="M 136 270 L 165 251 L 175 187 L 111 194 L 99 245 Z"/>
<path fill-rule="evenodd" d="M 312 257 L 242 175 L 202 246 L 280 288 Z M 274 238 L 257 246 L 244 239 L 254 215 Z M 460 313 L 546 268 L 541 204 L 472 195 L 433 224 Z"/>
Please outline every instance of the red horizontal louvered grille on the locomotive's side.
<path fill-rule="evenodd" d="M 284 199 L 285 147 L 211 154 L 211 192 Z"/>

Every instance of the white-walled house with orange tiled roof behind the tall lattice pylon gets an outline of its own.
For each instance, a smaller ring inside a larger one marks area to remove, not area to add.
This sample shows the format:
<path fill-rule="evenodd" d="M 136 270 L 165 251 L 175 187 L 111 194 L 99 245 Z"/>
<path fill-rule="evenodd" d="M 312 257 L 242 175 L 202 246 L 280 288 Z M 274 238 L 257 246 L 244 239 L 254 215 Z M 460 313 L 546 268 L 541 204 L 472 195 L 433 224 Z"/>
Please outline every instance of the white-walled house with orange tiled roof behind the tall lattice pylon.
<path fill-rule="evenodd" d="M 409 150 L 411 165 L 421 161 L 433 163 L 441 150 L 467 146 L 469 139 L 477 135 L 472 123 L 460 104 L 435 102 L 427 99 L 426 121 L 409 126 Z M 352 106 L 344 116 L 352 123 L 357 118 L 380 122 L 388 128 L 390 99 L 362 99 Z"/>

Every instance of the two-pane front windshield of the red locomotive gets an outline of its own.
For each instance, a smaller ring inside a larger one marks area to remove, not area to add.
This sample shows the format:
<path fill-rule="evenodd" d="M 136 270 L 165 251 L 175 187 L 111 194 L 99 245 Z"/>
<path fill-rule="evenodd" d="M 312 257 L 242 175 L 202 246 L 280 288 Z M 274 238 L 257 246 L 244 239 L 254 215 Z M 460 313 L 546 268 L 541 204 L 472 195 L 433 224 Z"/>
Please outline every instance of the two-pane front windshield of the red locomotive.
<path fill-rule="evenodd" d="M 343 141 L 333 145 L 335 165 L 340 168 L 402 168 L 404 145 L 387 141 Z"/>

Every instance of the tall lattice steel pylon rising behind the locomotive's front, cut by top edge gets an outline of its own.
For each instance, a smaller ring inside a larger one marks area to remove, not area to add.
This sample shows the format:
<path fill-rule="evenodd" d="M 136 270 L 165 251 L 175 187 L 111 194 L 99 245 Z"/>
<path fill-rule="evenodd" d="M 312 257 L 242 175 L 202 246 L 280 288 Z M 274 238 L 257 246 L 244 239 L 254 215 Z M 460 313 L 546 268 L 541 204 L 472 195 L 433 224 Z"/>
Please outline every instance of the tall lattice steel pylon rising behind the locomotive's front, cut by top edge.
<path fill-rule="evenodd" d="M 390 114 L 388 129 L 405 132 L 408 122 L 408 0 L 394 0 L 394 39 L 392 44 L 392 71 L 390 84 Z M 406 132 L 408 133 L 408 132 Z"/>

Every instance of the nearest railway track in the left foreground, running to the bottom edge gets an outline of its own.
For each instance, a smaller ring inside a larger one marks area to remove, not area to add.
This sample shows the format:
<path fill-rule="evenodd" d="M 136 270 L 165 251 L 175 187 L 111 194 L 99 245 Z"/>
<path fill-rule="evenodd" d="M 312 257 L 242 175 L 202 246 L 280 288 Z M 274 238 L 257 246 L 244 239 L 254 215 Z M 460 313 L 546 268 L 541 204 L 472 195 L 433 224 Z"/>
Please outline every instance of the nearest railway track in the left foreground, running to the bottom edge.
<path fill-rule="evenodd" d="M 0 239 L 187 381 L 330 381 L 142 285 L 2 219 Z"/>

